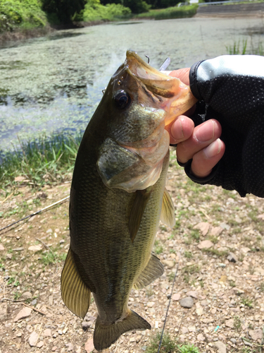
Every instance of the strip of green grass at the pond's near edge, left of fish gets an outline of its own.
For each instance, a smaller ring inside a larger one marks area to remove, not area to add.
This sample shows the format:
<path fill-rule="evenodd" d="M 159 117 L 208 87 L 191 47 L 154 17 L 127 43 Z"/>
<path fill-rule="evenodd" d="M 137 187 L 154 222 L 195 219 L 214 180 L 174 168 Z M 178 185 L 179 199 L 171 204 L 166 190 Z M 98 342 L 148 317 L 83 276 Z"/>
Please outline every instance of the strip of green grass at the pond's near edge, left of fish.
<path fill-rule="evenodd" d="M 13 152 L 0 151 L 0 189 L 18 186 L 15 177 L 24 177 L 32 187 L 69 179 L 73 172 L 81 134 L 76 138 L 62 134 L 20 143 Z"/>

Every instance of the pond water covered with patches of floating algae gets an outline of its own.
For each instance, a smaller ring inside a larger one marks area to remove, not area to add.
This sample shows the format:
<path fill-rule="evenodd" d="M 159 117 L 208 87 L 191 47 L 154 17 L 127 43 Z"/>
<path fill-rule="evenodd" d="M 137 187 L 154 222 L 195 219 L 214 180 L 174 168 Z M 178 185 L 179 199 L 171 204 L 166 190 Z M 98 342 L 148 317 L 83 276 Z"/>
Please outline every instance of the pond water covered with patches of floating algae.
<path fill-rule="evenodd" d="M 227 54 L 234 42 L 263 41 L 260 18 L 184 18 L 111 23 L 0 49 L 0 150 L 50 133 L 84 131 L 127 49 L 170 69 Z"/>

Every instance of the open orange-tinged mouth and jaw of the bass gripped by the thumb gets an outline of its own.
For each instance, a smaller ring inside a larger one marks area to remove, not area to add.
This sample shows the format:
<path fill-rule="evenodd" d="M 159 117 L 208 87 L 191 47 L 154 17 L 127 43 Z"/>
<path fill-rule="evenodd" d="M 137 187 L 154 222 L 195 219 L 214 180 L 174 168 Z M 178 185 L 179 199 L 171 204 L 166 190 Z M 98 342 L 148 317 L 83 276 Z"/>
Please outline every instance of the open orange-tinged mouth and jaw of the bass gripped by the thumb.
<path fill-rule="evenodd" d="M 188 85 L 182 83 L 179 78 L 168 76 L 153 68 L 137 52 L 127 50 L 125 66 L 127 73 L 138 80 L 145 88 L 145 93 L 167 113 L 165 126 L 177 119 L 177 116 L 187 112 L 197 102 Z"/>

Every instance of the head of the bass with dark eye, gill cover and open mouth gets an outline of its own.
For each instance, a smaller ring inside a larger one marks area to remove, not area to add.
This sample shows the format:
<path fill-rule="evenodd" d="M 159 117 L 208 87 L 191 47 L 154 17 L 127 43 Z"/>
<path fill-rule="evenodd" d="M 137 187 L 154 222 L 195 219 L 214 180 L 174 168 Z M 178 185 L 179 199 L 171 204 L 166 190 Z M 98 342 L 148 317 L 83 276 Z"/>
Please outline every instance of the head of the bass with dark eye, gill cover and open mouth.
<path fill-rule="evenodd" d="M 127 51 L 103 95 L 106 139 L 97 169 L 106 186 L 127 192 L 158 180 L 170 138 L 165 126 L 194 105 L 190 88 Z"/>

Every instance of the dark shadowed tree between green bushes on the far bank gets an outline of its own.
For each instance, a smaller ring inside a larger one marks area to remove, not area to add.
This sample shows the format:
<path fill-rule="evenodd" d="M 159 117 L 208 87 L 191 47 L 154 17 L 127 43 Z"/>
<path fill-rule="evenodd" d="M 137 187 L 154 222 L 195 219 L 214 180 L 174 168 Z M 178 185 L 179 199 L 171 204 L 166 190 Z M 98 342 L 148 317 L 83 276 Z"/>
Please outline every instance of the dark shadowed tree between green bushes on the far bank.
<path fill-rule="evenodd" d="M 47 13 L 56 13 L 61 23 L 72 22 L 75 13 L 84 9 L 85 0 L 42 0 L 42 10 Z"/>

